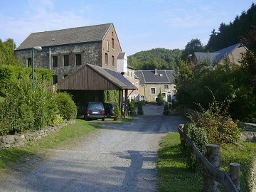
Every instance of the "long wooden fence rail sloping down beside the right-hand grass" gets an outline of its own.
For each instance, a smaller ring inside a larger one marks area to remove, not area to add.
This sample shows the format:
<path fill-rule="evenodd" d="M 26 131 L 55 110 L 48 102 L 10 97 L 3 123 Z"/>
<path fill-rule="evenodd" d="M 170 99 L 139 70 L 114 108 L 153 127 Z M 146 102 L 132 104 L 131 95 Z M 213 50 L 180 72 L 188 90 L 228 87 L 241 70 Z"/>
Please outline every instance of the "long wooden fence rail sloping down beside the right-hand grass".
<path fill-rule="evenodd" d="M 228 191 L 228 192 L 240 191 L 240 182 L 236 182 L 237 180 L 240 181 L 240 178 L 237 178 L 237 176 L 231 175 L 231 178 L 235 178 L 234 179 L 235 180 L 234 182 L 236 183 L 235 185 L 233 180 L 230 178 L 230 174 L 228 174 L 225 171 L 220 171 L 220 169 L 213 166 L 213 164 L 211 164 L 210 161 L 208 161 L 208 159 L 205 156 L 203 156 L 203 154 L 201 154 L 201 152 L 197 149 L 196 145 L 193 144 L 191 138 L 183 133 L 183 124 L 180 124 L 178 126 L 178 133 L 180 134 L 181 137 L 183 137 L 183 139 L 186 140 L 188 144 L 191 145 L 193 152 L 196 154 L 197 158 L 203 164 L 203 167 L 206 170 L 206 173 L 210 174 L 210 176 L 213 177 L 214 181 L 217 181 L 218 183 L 222 183 L 225 188 L 225 191 Z M 239 164 L 235 164 L 235 165 L 239 165 Z M 232 173 L 233 171 L 230 171 L 230 172 Z"/>

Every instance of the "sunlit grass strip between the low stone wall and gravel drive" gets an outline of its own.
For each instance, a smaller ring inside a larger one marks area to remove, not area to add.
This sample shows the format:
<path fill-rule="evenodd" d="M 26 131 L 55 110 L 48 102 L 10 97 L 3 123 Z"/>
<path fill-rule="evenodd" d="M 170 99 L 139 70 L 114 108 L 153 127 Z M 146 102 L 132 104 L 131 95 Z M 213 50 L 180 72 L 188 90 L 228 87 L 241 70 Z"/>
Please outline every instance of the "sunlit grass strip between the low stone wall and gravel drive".
<path fill-rule="evenodd" d="M 23 163 L 28 164 L 28 161 L 46 159 L 50 154 L 48 149 L 78 146 L 80 139 L 83 139 L 86 134 L 95 130 L 97 130 L 96 126 L 90 125 L 82 119 L 76 119 L 74 124 L 60 129 L 59 132 L 43 137 L 35 144 L 26 144 L 24 147 L 13 149 L 1 149 L 0 174 L 6 174 L 6 171 L 15 170 L 17 169 L 16 166 L 21 166 Z M 70 139 L 72 139 L 72 142 L 70 142 Z M 73 146 L 70 146 L 70 143 Z"/>

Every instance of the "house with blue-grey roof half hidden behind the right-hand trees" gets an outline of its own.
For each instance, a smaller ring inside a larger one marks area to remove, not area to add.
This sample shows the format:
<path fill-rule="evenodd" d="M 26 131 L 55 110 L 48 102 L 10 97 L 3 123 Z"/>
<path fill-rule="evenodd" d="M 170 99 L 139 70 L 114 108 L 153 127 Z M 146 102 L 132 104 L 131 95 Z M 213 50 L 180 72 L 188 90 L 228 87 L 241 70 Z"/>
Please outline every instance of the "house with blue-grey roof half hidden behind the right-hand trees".
<path fill-rule="evenodd" d="M 247 48 L 242 45 L 242 43 L 237 43 L 228 48 L 223 48 L 217 50 L 214 53 L 199 53 L 195 52 L 191 55 L 192 65 L 197 65 L 198 63 L 205 61 L 208 62 L 210 67 L 213 68 L 215 64 L 222 63 L 225 57 L 228 57 L 229 60 L 237 65 L 240 65 L 240 60 L 242 55 L 247 52 Z"/>

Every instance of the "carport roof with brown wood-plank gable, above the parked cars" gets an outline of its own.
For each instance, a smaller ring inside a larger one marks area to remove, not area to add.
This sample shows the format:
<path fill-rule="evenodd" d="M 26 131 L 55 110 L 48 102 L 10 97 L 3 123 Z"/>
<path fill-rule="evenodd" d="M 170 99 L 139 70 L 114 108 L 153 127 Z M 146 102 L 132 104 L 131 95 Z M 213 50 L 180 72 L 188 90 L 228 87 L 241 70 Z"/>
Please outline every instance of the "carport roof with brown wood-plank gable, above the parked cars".
<path fill-rule="evenodd" d="M 93 73 L 93 79 L 88 78 Z M 80 78 L 78 78 L 80 77 Z M 59 90 L 137 90 L 121 73 L 97 65 L 82 65 L 58 82 Z"/>

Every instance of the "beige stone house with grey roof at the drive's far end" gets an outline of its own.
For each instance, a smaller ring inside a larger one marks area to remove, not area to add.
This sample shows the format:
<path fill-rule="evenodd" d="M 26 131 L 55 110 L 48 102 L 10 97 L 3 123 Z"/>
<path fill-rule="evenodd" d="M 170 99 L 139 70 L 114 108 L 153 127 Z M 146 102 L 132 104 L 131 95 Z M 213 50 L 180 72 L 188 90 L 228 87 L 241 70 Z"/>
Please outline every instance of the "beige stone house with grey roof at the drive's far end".
<path fill-rule="evenodd" d="M 156 102 L 159 92 L 166 102 L 176 99 L 175 70 L 136 70 L 135 75 L 139 78 L 139 100 Z"/>

